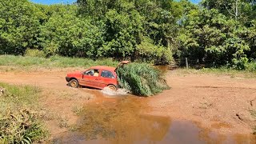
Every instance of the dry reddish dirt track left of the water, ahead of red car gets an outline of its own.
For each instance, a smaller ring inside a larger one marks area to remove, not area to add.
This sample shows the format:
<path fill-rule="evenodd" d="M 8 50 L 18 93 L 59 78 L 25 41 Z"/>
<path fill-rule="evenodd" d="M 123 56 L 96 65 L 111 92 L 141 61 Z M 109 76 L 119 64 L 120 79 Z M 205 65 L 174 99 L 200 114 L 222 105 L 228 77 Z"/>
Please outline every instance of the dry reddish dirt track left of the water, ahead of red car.
<path fill-rule="evenodd" d="M 14 68 L 15 69 L 15 68 Z M 66 70 L 12 70 L 0 69 L 0 82 L 15 85 L 38 86 L 42 89 L 40 105 L 45 113 L 46 128 L 51 136 L 68 131 L 68 125 L 77 121 L 77 115 L 72 110 L 74 107 L 83 106 L 93 99 L 92 94 L 82 89 L 72 89 L 66 86 L 66 73 L 74 69 Z M 63 125 L 63 126 L 61 126 Z"/>

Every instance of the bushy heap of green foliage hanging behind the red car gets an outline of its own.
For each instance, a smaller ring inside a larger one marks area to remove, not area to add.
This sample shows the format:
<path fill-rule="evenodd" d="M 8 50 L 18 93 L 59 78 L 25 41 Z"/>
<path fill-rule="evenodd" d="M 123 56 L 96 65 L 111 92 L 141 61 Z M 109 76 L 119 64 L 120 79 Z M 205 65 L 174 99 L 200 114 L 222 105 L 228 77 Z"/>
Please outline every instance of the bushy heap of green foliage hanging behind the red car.
<path fill-rule="evenodd" d="M 170 89 L 164 74 L 148 64 L 130 63 L 118 66 L 118 82 L 122 88 L 139 96 L 151 96 Z"/>

